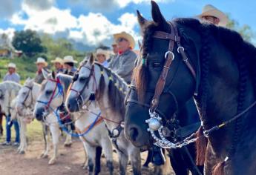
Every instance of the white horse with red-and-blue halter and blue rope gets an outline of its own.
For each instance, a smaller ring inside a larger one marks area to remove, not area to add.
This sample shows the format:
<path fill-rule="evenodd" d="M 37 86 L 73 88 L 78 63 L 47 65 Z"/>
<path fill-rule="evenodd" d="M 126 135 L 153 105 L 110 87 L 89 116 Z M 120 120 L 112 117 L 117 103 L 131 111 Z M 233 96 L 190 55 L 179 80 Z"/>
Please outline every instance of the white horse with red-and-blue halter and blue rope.
<path fill-rule="evenodd" d="M 34 115 L 36 118 L 41 118 L 45 113 L 52 113 L 64 105 L 65 93 L 72 82 L 73 77 L 64 74 L 44 73 L 46 81 L 42 85 L 41 94 L 36 102 Z M 47 107 L 47 108 L 45 108 Z M 102 122 L 99 108 L 92 103 L 89 105 L 89 110 L 82 110 L 79 113 L 74 113 L 76 131 L 80 133 L 85 150 L 88 153 L 88 168 L 89 173 L 93 173 L 94 160 L 96 160 L 96 147 L 102 147 L 110 174 L 113 174 L 113 155 L 111 140 L 108 138 L 108 131 Z M 85 133 L 85 134 L 82 134 Z M 100 159 L 100 155 L 98 160 Z M 98 164 L 98 165 L 97 165 Z M 100 171 L 100 162 L 95 165 L 94 174 Z"/>

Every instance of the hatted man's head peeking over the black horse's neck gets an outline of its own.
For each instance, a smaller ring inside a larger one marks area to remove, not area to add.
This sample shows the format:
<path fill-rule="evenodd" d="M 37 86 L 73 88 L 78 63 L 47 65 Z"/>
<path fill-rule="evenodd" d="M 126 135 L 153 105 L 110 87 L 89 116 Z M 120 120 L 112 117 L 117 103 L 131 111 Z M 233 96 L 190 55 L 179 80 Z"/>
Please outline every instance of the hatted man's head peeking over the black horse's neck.
<path fill-rule="evenodd" d="M 229 21 L 225 13 L 218 10 L 211 4 L 207 4 L 205 7 L 203 7 L 202 13 L 198 15 L 197 18 L 223 27 L 226 27 L 226 24 Z"/>

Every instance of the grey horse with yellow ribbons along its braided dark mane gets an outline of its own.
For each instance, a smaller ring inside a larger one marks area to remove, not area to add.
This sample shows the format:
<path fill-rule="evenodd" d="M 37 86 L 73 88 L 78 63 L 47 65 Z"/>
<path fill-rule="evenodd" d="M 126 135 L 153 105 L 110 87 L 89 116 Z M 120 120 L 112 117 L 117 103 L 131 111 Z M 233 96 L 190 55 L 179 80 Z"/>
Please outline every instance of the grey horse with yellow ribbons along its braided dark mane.
<path fill-rule="evenodd" d="M 140 174 L 140 149 L 134 147 L 122 128 L 125 116 L 123 91 L 128 90 L 128 85 L 115 73 L 98 63 L 94 63 L 91 55 L 88 61 L 82 62 L 78 73 L 74 76 L 73 85 L 66 100 L 66 106 L 71 112 L 80 110 L 83 105 L 95 96 L 96 102 L 105 116 L 105 124 L 109 135 L 119 156 L 120 174 L 125 174 L 128 158 L 134 174 Z"/>

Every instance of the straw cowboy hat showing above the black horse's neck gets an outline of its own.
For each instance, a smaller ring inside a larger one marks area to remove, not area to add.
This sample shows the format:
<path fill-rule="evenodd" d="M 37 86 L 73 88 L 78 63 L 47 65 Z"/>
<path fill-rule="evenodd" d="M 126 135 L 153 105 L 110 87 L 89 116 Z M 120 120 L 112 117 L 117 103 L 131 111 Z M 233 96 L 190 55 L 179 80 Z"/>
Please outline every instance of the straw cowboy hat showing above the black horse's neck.
<path fill-rule="evenodd" d="M 220 26 L 226 26 L 228 23 L 228 18 L 226 17 L 225 13 L 218 10 L 211 4 L 207 4 L 205 7 L 203 7 L 202 13 L 198 15 L 197 18 L 203 19 L 203 16 L 213 16 L 217 19 L 220 19 Z"/>

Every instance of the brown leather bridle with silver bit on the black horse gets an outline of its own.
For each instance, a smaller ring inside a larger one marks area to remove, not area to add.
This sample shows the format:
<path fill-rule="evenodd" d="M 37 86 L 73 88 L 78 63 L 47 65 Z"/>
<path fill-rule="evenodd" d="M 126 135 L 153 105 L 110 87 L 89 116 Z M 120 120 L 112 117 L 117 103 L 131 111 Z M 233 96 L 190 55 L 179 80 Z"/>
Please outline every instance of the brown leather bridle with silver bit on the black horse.
<path fill-rule="evenodd" d="M 150 119 L 147 119 L 145 122 L 148 123 L 148 132 L 151 133 L 151 136 L 156 140 L 154 142 L 154 145 L 157 145 L 161 148 L 177 148 L 179 145 L 168 141 L 165 139 L 165 136 L 163 134 L 163 124 L 162 124 L 162 118 L 160 115 L 156 112 L 157 107 L 159 105 L 159 99 L 160 95 L 163 93 L 163 89 L 165 87 L 165 82 L 166 78 L 168 75 L 168 70 L 170 69 L 171 63 L 174 61 L 174 44 L 177 43 L 177 52 L 181 54 L 183 58 L 183 62 L 186 64 L 188 67 L 188 70 L 190 70 L 192 76 L 194 76 L 194 79 L 196 80 L 196 90 L 195 90 L 195 95 L 197 95 L 197 89 L 198 89 L 198 83 L 197 81 L 199 78 L 199 73 L 196 74 L 194 71 L 194 68 L 191 66 L 191 64 L 188 62 L 188 57 L 186 56 L 184 47 L 181 46 L 180 44 L 180 36 L 178 34 L 177 26 L 176 24 L 169 22 L 170 27 L 171 27 L 171 33 L 165 33 L 163 31 L 156 31 L 154 33 L 154 38 L 156 39 L 165 39 L 169 40 L 169 45 L 168 45 L 168 50 L 165 52 L 165 65 L 163 66 L 163 71 L 160 74 L 160 78 L 157 81 L 157 85 L 154 91 L 154 97 L 151 99 L 151 105 L 148 110 Z M 174 94 L 172 94 L 174 96 Z M 176 97 L 174 96 L 174 99 Z M 177 100 L 176 100 L 177 101 Z M 177 104 L 176 104 L 177 105 Z M 159 136 L 156 136 L 154 131 L 158 131 Z"/>

